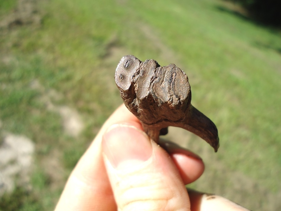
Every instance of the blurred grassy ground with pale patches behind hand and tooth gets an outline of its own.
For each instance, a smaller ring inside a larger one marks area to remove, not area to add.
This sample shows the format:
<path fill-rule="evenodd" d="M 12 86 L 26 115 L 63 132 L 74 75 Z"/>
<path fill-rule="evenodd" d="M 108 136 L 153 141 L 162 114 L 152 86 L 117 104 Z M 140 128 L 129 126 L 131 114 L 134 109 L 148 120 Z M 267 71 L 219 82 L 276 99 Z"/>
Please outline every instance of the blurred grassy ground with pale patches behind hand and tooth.
<path fill-rule="evenodd" d="M 181 68 L 218 127 L 217 153 L 182 129 L 164 137 L 205 161 L 189 187 L 281 210 L 281 19 L 262 2 L 0 0 L 0 210 L 54 209 L 122 103 L 127 54 Z"/>

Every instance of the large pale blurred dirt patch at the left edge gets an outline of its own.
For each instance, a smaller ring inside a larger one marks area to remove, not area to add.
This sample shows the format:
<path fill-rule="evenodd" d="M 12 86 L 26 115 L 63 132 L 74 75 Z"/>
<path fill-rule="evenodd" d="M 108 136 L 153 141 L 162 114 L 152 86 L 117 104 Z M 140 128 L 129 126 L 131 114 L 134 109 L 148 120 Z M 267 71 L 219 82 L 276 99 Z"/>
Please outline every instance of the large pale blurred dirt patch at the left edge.
<path fill-rule="evenodd" d="M 0 145 L 0 195 L 27 186 L 33 165 L 33 142 L 24 136 L 7 134 Z"/>

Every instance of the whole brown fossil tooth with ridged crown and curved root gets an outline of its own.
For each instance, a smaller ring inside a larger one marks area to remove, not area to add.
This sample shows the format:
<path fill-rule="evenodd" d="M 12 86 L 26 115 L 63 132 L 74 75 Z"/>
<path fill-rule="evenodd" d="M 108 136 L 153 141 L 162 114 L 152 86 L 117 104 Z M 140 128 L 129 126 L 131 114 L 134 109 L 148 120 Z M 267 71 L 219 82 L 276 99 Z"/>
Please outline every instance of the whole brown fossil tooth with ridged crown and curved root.
<path fill-rule="evenodd" d="M 141 62 L 133 55 L 122 57 L 115 82 L 125 106 L 140 120 L 144 131 L 158 142 L 168 126 L 184 128 L 219 147 L 215 124 L 191 105 L 186 74 L 174 64 L 160 66 L 155 60 Z"/>

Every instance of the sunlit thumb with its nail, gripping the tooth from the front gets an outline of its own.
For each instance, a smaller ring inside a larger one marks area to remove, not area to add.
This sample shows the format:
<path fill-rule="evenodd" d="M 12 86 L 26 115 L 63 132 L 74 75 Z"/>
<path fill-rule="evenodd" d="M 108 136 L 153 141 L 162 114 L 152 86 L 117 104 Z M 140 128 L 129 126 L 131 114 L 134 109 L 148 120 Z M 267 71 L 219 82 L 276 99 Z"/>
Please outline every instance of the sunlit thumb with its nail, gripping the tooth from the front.
<path fill-rule="evenodd" d="M 118 210 L 190 210 L 172 159 L 137 127 L 117 124 L 103 135 L 104 162 Z"/>

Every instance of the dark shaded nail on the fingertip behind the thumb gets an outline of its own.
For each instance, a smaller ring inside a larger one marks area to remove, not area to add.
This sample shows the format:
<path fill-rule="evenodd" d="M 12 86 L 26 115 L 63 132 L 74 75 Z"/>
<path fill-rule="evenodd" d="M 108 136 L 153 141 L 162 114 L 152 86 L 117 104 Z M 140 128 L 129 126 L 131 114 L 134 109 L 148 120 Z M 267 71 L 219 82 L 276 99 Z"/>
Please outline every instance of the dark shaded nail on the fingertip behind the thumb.
<path fill-rule="evenodd" d="M 164 148 L 169 154 L 184 154 L 188 157 L 191 157 L 191 158 L 195 158 L 197 160 L 201 160 L 202 161 L 202 158 L 200 158 L 197 154 L 173 143 L 173 142 L 168 142 L 168 141 L 161 141 L 159 143 L 159 145 Z"/>

